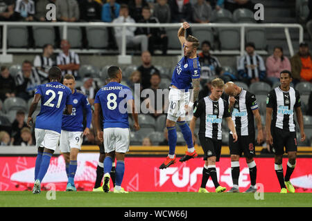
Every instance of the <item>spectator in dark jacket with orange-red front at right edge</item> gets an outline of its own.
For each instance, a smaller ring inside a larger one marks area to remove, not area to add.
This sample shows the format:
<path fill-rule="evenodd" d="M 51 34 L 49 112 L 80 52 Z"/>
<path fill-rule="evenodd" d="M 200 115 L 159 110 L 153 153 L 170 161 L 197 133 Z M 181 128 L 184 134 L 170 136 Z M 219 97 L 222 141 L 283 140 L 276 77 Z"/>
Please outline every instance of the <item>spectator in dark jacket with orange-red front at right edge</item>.
<path fill-rule="evenodd" d="M 299 52 L 291 57 L 291 72 L 293 83 L 299 81 L 312 82 L 312 61 L 309 45 L 306 42 L 300 43 Z"/>

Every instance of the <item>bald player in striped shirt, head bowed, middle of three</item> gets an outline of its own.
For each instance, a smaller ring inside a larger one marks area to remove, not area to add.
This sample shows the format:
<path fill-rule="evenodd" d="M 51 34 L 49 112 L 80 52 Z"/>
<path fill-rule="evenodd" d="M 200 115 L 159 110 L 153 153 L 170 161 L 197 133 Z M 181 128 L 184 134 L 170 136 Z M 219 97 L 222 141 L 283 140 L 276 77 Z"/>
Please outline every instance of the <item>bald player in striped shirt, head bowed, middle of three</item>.
<path fill-rule="evenodd" d="M 256 96 L 248 90 L 241 88 L 229 81 L 225 84 L 225 93 L 229 95 L 229 109 L 232 110 L 232 120 L 235 123 L 238 141 L 233 142 L 229 136 L 229 152 L 231 155 L 231 173 L 233 188 L 229 193 L 239 193 L 239 158 L 244 153 L 249 167 L 250 188 L 245 193 L 254 193 L 257 191 L 257 166 L 254 162 L 255 155 L 255 130 L 254 117 L 256 119 L 258 135 L 257 142 L 263 141 L 261 116 L 258 109 Z"/>

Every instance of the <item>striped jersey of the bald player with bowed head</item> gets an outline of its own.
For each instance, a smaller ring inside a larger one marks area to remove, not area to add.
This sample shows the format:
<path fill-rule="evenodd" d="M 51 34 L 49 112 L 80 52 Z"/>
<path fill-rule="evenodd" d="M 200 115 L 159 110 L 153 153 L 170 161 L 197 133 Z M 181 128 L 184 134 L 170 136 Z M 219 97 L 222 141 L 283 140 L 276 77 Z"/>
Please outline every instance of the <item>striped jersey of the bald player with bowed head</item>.
<path fill-rule="evenodd" d="M 235 97 L 232 111 L 232 120 L 237 135 L 247 136 L 254 134 L 254 113 L 252 111 L 257 108 L 256 96 L 242 88 L 241 93 Z"/>

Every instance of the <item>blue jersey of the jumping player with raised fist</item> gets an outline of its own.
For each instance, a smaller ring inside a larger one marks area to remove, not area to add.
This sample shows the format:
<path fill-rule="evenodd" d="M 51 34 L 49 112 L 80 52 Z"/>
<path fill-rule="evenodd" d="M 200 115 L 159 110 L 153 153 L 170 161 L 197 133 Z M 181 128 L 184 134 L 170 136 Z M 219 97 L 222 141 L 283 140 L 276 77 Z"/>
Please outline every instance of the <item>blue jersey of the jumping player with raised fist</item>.
<path fill-rule="evenodd" d="M 198 57 L 188 58 L 183 56 L 173 70 L 171 85 L 178 89 L 189 90 L 192 86 L 192 79 L 200 77 L 200 62 Z"/>

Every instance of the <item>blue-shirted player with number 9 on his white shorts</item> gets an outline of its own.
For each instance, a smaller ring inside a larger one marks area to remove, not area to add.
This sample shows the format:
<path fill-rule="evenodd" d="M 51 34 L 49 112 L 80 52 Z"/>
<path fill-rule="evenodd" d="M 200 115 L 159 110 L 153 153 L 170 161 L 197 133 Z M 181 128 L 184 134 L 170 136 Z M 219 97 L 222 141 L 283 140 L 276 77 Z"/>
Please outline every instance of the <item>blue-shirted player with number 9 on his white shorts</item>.
<path fill-rule="evenodd" d="M 86 136 L 90 133 L 92 112 L 87 96 L 82 91 L 75 89 L 76 81 L 73 75 L 65 75 L 63 84 L 71 89 L 73 109 L 71 115 L 63 115 L 62 117 L 60 151 L 64 156 L 68 177 L 66 191 L 76 191 L 73 179 L 77 170 L 77 155 L 83 143 L 83 135 Z M 85 110 L 87 122 L 85 130 L 83 130 L 83 110 Z"/>

